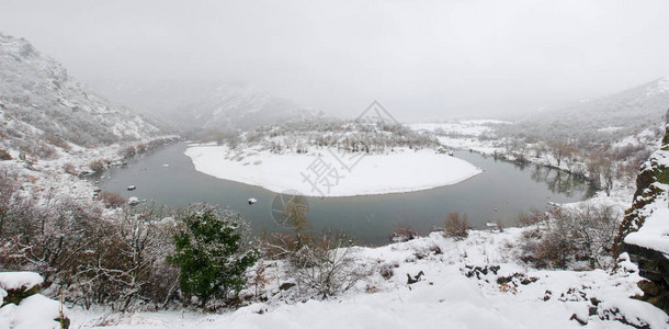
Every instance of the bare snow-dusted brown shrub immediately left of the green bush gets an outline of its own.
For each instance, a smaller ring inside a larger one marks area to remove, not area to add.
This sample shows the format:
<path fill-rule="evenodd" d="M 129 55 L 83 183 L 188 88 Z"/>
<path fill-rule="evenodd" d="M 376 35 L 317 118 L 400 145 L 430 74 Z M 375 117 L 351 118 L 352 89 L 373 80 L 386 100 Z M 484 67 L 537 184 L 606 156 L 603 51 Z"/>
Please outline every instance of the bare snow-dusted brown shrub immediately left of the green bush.
<path fill-rule="evenodd" d="M 86 296 L 122 310 L 136 300 L 167 303 L 177 288 L 178 273 L 166 263 L 172 231 L 160 222 L 162 214 L 154 206 L 135 207 L 105 227 L 79 273 L 82 279 L 95 277 L 81 287 L 88 290 Z"/>

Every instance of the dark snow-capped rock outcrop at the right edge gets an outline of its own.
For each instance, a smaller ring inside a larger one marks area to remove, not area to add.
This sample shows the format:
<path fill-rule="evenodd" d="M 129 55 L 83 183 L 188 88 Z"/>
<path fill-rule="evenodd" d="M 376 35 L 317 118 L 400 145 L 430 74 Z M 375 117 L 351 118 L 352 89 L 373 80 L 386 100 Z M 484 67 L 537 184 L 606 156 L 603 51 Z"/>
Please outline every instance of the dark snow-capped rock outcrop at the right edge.
<path fill-rule="evenodd" d="M 667 112 L 669 120 L 669 111 Z M 640 169 L 636 179 L 636 192 L 632 207 L 625 212 L 619 235 L 614 241 L 614 253 L 627 252 L 633 262 L 638 264 L 639 274 L 648 281 L 639 282 L 644 291 L 643 299 L 669 314 L 669 259 L 666 250 L 660 248 L 669 237 L 656 231 L 653 242 L 639 242 L 639 229 L 657 209 L 667 208 L 669 202 L 669 123 L 665 126 L 662 146 L 655 151 Z M 669 227 L 669 217 L 655 216 L 654 222 Z M 666 224 L 664 222 L 667 222 Z M 654 223 L 657 225 L 657 223 Z M 654 229 L 655 230 L 655 229 Z M 651 232 L 653 234 L 653 232 Z M 635 236 L 634 239 L 627 237 Z M 644 236 L 646 237 L 646 236 Z M 627 239 L 626 239 L 627 238 Z M 658 246 L 658 247 L 655 247 Z"/>

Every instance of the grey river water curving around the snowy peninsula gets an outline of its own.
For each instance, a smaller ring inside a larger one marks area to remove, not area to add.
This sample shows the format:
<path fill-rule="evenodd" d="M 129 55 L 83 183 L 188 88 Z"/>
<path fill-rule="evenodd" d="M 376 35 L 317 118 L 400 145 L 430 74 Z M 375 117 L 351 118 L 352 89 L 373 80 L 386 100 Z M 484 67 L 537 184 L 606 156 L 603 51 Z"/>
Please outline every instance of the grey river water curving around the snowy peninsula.
<path fill-rule="evenodd" d="M 197 172 L 183 155 L 185 148 L 185 144 L 175 144 L 151 150 L 128 161 L 127 167 L 112 168 L 103 178 L 90 179 L 100 180 L 100 188 L 118 192 L 126 198 L 137 196 L 169 206 L 209 202 L 236 209 L 256 234 L 281 229 L 272 219 L 271 205 L 276 193 Z M 449 213 L 466 213 L 469 225 L 476 228 L 485 228 L 487 222 L 498 219 L 513 225 L 521 212 L 547 209 L 549 202 L 583 200 L 593 192 L 582 179 L 559 170 L 467 151 L 456 151 L 455 156 L 485 171 L 455 185 L 427 191 L 309 197 L 311 226 L 315 230 L 342 230 L 366 243 L 382 245 L 388 242 L 397 226 L 410 226 L 427 234 L 434 226 L 443 226 Z M 128 185 L 136 185 L 137 190 L 127 191 Z M 258 202 L 250 205 L 249 197 Z"/>

